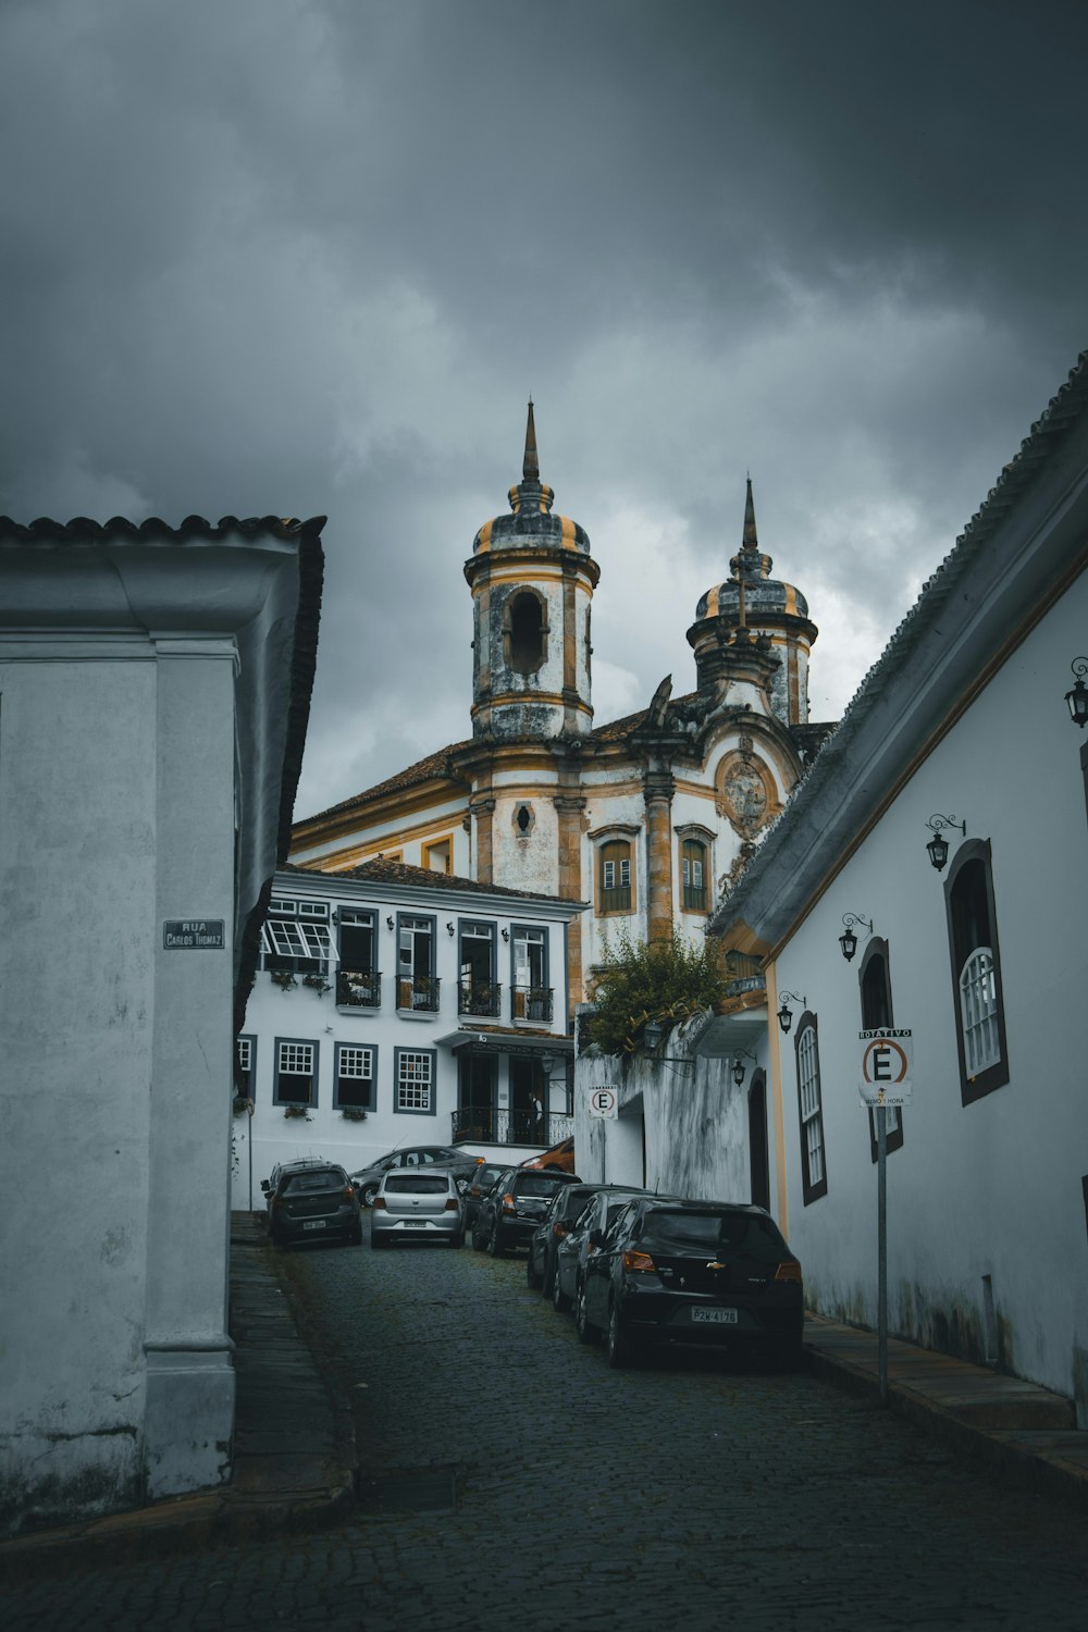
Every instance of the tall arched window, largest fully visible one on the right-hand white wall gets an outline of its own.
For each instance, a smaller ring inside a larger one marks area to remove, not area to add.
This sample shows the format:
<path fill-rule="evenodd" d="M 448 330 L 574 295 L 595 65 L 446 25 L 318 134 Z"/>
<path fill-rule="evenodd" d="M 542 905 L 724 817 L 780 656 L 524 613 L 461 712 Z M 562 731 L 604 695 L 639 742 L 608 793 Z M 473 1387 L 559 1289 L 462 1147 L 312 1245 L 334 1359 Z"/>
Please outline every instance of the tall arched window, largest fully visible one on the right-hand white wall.
<path fill-rule="evenodd" d="M 990 842 L 961 844 L 944 885 L 964 1105 L 1008 1082 Z"/>

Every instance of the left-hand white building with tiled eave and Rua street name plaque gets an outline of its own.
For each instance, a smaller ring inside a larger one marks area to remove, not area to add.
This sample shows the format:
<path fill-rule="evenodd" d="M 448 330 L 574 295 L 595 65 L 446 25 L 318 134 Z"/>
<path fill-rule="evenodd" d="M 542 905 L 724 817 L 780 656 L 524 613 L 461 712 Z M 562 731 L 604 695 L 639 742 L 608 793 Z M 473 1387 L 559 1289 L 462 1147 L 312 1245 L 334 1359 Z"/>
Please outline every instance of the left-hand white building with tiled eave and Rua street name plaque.
<path fill-rule="evenodd" d="M 230 1472 L 232 1056 L 321 522 L 0 519 L 0 1529 Z"/>

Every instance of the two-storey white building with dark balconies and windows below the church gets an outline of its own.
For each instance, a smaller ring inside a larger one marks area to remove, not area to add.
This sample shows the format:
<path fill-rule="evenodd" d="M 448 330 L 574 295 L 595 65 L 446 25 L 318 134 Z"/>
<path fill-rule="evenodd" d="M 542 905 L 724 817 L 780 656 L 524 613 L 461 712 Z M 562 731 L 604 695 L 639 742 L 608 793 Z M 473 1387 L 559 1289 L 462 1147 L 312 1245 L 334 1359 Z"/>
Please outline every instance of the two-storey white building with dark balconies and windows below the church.
<path fill-rule="evenodd" d="M 413 1144 L 522 1160 L 568 1138 L 582 906 L 401 862 L 281 870 L 238 1038 L 235 1206 L 299 1155 L 357 1172 Z"/>

